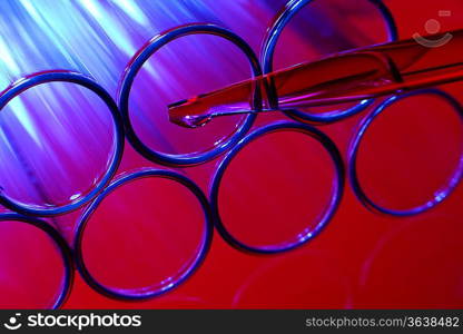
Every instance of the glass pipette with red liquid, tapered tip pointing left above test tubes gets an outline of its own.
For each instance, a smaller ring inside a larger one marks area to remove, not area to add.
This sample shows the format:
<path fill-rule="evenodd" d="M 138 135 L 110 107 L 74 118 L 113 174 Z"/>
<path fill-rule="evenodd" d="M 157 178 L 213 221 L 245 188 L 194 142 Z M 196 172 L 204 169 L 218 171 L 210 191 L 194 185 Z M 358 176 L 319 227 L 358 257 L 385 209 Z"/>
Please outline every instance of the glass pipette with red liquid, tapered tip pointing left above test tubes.
<path fill-rule="evenodd" d="M 457 81 L 463 30 L 449 35 L 452 39 L 439 48 L 410 39 L 275 71 L 173 104 L 169 118 L 194 128 L 217 116 L 337 105 Z M 256 89 L 267 101 L 263 110 L 246 108 Z"/>

